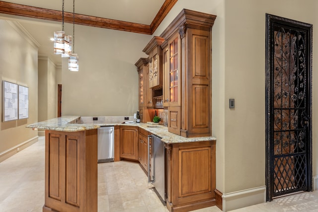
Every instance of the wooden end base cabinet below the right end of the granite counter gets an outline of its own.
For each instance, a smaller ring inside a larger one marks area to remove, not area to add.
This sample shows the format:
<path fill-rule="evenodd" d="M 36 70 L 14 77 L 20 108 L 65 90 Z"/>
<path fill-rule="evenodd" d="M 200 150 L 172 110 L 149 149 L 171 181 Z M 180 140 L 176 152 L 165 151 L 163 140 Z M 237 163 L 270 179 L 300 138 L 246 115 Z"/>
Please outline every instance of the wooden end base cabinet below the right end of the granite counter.
<path fill-rule="evenodd" d="M 166 206 L 187 212 L 216 205 L 215 141 L 165 144 Z"/>

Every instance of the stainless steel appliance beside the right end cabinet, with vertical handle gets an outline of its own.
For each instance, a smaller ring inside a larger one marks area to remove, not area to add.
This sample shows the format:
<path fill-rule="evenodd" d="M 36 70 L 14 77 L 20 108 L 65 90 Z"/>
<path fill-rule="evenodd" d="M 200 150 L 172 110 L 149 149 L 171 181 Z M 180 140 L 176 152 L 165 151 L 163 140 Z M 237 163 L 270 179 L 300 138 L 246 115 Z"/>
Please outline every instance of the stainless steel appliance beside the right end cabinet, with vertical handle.
<path fill-rule="evenodd" d="M 148 182 L 153 183 L 163 201 L 164 191 L 164 145 L 161 138 L 155 135 L 148 136 Z"/>

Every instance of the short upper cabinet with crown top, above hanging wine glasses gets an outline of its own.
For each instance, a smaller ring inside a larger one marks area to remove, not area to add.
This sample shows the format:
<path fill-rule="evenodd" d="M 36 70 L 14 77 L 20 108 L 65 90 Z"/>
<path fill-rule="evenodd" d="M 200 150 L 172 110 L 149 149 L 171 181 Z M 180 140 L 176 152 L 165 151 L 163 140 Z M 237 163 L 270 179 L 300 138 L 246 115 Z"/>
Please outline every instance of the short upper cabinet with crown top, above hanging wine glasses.
<path fill-rule="evenodd" d="M 162 87 L 162 49 L 160 45 L 163 41 L 163 38 L 155 36 L 143 50 L 143 52 L 149 55 L 149 88 Z"/>

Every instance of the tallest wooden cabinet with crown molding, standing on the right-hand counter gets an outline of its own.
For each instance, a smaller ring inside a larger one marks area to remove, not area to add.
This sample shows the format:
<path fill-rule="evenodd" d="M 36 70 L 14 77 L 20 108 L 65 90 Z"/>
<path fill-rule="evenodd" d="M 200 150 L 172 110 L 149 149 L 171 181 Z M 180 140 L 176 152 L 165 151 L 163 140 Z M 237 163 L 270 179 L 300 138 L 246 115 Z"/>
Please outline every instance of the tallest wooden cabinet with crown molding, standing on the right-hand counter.
<path fill-rule="evenodd" d="M 177 123 L 169 117 L 168 130 L 183 137 L 212 135 L 211 31 L 215 18 L 183 9 L 160 35 L 165 39 L 161 44 L 164 105 L 170 115 L 175 115 L 170 111 L 180 111 Z M 175 126 L 180 126 L 180 132 Z"/>

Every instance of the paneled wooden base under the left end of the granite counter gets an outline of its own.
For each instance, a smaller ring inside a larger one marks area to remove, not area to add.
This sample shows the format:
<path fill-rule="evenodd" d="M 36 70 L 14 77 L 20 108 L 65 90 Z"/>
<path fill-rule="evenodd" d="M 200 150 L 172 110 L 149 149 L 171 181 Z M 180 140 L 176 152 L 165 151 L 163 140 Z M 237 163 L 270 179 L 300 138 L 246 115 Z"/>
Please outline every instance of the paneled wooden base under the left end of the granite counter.
<path fill-rule="evenodd" d="M 97 212 L 97 129 L 45 131 L 43 212 Z"/>

